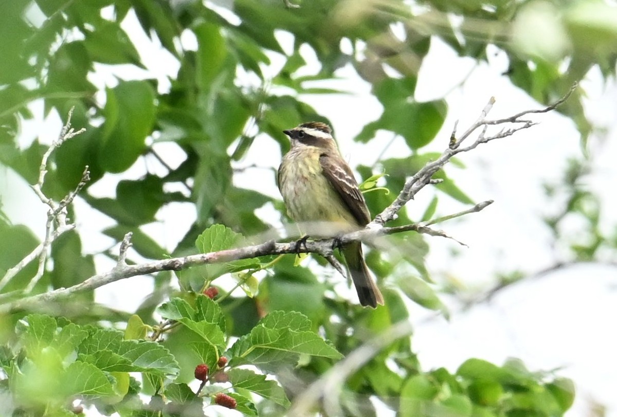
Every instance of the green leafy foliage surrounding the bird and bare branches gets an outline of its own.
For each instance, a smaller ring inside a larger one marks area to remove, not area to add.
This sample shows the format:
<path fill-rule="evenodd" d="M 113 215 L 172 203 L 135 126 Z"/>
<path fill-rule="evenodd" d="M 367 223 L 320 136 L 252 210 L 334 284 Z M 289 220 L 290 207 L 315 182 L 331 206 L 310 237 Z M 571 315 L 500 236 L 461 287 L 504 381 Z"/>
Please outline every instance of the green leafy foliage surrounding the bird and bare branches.
<path fill-rule="evenodd" d="M 242 235 L 267 231 L 270 226 L 255 210 L 268 203 L 284 217 L 279 200 L 234 184 L 232 163 L 242 159 L 258 133 L 270 135 L 285 152 L 282 130 L 308 120 L 327 121 L 299 97 L 336 93 L 316 88 L 313 81 L 335 79 L 338 68 L 355 68 L 383 105 L 383 113 L 363 126 L 357 141 L 369 142 L 376 131 L 387 130 L 402 136 L 409 148 L 408 155 L 381 161 L 387 176 L 379 186 L 390 192 L 366 194 L 372 213 L 394 199 L 405 176 L 434 158 L 423 147 L 443 125 L 447 105 L 444 99 L 414 98 L 418 70 L 433 39 L 476 62 L 487 60 L 489 44 L 497 46 L 508 57 L 506 75 L 513 85 L 543 104 L 563 96 L 594 65 L 603 76 L 615 75 L 617 9 L 600 0 L 311 0 L 299 6 L 286 8 L 280 0 L 216 5 L 194 0 L 3 2 L 0 163 L 35 183 L 46 148 L 38 141 L 27 146 L 17 141 L 21 123 L 33 118 L 29 105 L 42 100 L 45 115 L 56 113 L 63 120 L 75 107 L 73 126 L 86 133 L 52 155 L 46 194 L 62 199 L 89 165 L 91 181 L 81 197 L 114 221 L 104 234 L 118 242 L 132 231 L 133 247 L 146 258 L 208 252 L 238 246 Z M 139 44 L 121 25 L 129 14 L 178 65 L 168 77 L 170 88 L 153 78 L 117 76 L 103 90 L 93 83 L 101 65 L 147 68 Z M 280 44 L 281 32 L 293 38 L 289 54 Z M 189 34 L 195 50 L 180 41 Z M 351 45 L 351 53 L 344 44 Z M 307 54 L 300 54 L 300 47 L 315 54 L 317 72 L 302 71 Z M 267 77 L 264 70 L 273 54 L 285 63 Z M 271 86 L 286 93 L 271 93 Z M 582 95 L 576 90 L 559 111 L 576 123 L 584 147 L 591 125 L 582 112 Z M 155 152 L 159 142 L 173 142 L 183 151 L 176 168 L 163 176 L 122 178 L 114 198 L 89 191 L 102 178 L 122 175 L 145 158 L 165 161 L 166 155 Z M 365 179 L 375 174 L 368 167 L 358 171 Z M 586 218 L 595 232 L 586 244 L 573 243 L 571 251 L 576 260 L 594 259 L 602 244 L 612 239 L 614 246 L 617 239 L 598 232 L 597 200 L 576 186 L 581 164 L 573 162 L 568 175 L 567 208 L 546 223 L 557 234 L 564 217 Z M 444 180 L 436 187 L 439 192 L 472 202 L 445 172 L 436 177 Z M 178 186 L 183 191 L 170 191 Z M 157 242 L 142 226 L 155 221 L 161 209 L 185 202 L 194 203 L 197 220 L 167 254 L 165 242 Z M 421 220 L 434 215 L 437 202 L 435 197 Z M 79 223 L 80 218 L 73 220 Z M 392 225 L 409 221 L 403 211 Z M 35 292 L 72 286 L 94 274 L 93 257 L 82 255 L 86 238 L 70 232 L 54 242 L 52 262 Z M 37 244 L 30 230 L 0 216 L 0 275 Z M 281 415 L 297 394 L 297 381 L 288 386 L 285 371 L 293 369 L 304 382 L 318 378 L 341 354 L 408 320 L 408 300 L 447 313 L 424 265 L 424 238 L 400 234 L 392 236 L 392 245 L 400 249 L 397 254 L 367 254 L 379 281 L 400 288 L 385 289 L 386 305 L 375 311 L 351 305 L 336 295 L 331 280 L 294 266 L 288 256 L 194 268 L 177 277 L 159 273 L 151 296 L 131 318 L 97 305 L 93 292 L 78 297 L 79 307 L 75 300 L 60 302 L 50 315 L 0 317 L 0 397 L 11 398 L 4 410 L 19 416 L 72 415 L 67 404 L 80 398 L 106 415 L 202 415 L 204 400 L 230 388 L 211 380 L 198 396 L 186 384 L 199 363 L 211 371 L 225 368 L 218 365 L 225 355 L 238 410 Z M 23 268 L 2 295 L 19 297 L 36 267 L 34 261 Z M 231 280 L 247 296 L 225 293 L 213 301 L 196 295 L 213 288 L 216 279 Z M 176 281 L 180 291 L 172 289 Z M 154 315 L 157 305 L 159 316 L 168 320 L 163 325 Z M 110 325 L 126 328 L 124 335 Z M 255 365 L 279 382 L 241 365 Z M 470 359 L 455 373 L 421 371 L 408 339 L 379 353 L 346 382 L 343 392 L 342 407 L 349 415 L 376 415 L 370 399 L 379 399 L 381 407 L 402 416 L 560 416 L 573 400 L 570 381 L 532 373 L 515 360 L 499 367 Z M 138 394 L 149 395 L 147 407 Z"/>

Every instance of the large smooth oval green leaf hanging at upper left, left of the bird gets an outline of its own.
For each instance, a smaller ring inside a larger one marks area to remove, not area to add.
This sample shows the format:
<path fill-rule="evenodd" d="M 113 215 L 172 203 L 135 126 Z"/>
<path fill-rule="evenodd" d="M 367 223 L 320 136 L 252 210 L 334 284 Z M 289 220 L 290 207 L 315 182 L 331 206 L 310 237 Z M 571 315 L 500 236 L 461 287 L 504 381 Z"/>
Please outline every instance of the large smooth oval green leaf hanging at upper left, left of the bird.
<path fill-rule="evenodd" d="M 154 125 L 154 90 L 147 81 L 122 81 L 107 89 L 103 114 L 99 165 L 108 172 L 123 172 L 146 149 L 146 136 Z"/>

